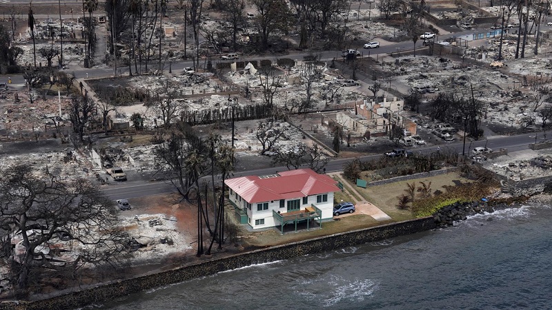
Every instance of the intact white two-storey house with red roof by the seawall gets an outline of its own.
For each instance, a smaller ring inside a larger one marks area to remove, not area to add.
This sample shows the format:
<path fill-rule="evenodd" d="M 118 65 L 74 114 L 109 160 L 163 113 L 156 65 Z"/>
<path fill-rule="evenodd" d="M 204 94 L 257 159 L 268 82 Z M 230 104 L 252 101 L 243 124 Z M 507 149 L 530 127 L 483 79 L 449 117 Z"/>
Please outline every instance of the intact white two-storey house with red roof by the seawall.
<path fill-rule="evenodd" d="M 322 225 L 333 218 L 337 181 L 312 169 L 230 178 L 228 198 L 242 224 L 253 229 L 297 223 Z"/>

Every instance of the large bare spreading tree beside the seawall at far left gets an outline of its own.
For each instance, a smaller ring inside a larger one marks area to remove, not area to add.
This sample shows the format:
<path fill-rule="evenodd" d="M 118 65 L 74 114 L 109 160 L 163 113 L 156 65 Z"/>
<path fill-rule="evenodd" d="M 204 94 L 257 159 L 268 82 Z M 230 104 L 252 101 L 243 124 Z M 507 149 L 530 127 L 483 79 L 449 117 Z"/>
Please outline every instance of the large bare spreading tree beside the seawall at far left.
<path fill-rule="evenodd" d="M 87 265 L 115 266 L 124 257 L 125 234 L 116 228 L 115 205 L 89 180 L 61 181 L 28 165 L 1 175 L 0 239 L 10 249 L 15 245 L 4 255 L 12 262 L 17 289 L 28 289 L 31 274 L 48 278 Z M 45 250 L 58 238 L 71 240 L 72 255 Z"/>

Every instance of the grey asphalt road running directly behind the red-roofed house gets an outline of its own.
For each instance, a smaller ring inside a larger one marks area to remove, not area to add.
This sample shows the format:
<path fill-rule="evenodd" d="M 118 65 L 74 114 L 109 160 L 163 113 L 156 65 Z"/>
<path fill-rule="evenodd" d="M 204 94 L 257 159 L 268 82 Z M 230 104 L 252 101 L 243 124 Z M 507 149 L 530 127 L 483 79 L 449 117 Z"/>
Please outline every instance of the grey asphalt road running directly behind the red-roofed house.
<path fill-rule="evenodd" d="M 538 134 L 538 141 L 542 141 L 544 136 Z M 501 149 L 506 148 L 509 152 L 516 152 L 523 149 L 529 149 L 529 143 L 535 143 L 535 134 L 520 134 L 515 136 L 493 136 L 488 140 L 482 141 L 468 141 L 466 140 L 465 149 L 463 141 L 447 143 L 446 145 L 439 145 L 441 149 L 446 147 L 451 147 L 456 150 L 458 154 L 462 154 L 464 150 L 466 154 L 471 152 L 471 149 L 479 146 L 490 147 L 491 149 Z M 437 151 L 437 145 L 428 146 L 428 147 L 417 147 L 415 152 L 422 152 L 423 154 L 428 154 L 431 152 Z M 375 154 L 369 156 L 362 156 L 360 159 L 362 161 L 367 161 L 370 159 L 379 158 L 382 154 Z M 348 161 L 353 161 L 353 158 L 343 158 L 330 161 L 326 166 L 326 172 L 337 172 L 343 169 L 344 163 Z M 286 167 L 270 167 L 266 169 L 255 169 L 255 170 L 246 170 L 240 172 L 242 175 L 257 175 L 262 176 L 266 174 L 274 174 L 278 171 L 285 171 Z M 210 176 L 204 177 L 205 180 L 210 180 Z M 217 182 L 220 182 L 220 178 L 216 178 Z M 168 181 L 157 181 L 157 182 L 148 182 L 148 181 L 127 181 L 123 183 L 115 183 L 103 189 L 108 197 L 111 199 L 121 199 L 121 198 L 140 198 L 145 196 L 152 196 L 157 194 L 169 194 L 176 192 L 175 187 L 170 184 Z"/>

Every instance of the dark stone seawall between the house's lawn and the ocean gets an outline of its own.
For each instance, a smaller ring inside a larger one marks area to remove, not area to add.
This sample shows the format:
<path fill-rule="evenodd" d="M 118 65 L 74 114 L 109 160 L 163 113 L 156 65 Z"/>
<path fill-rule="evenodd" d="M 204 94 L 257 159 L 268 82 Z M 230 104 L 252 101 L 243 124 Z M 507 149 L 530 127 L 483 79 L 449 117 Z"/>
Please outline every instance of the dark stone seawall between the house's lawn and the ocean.
<path fill-rule="evenodd" d="M 33 302 L 2 302 L 0 303 L 0 309 L 46 310 L 83 307 L 86 304 L 103 302 L 146 289 L 162 287 L 164 285 L 183 282 L 202 276 L 210 276 L 221 271 L 264 262 L 272 262 L 275 260 L 284 260 L 306 254 L 315 254 L 322 251 L 333 251 L 343 247 L 361 245 L 366 242 L 427 231 L 435 227 L 436 225 L 433 217 L 427 217 L 373 228 L 357 229 L 355 231 L 333 234 L 331 236 L 293 242 L 287 245 L 258 249 L 225 258 L 217 258 L 168 271 L 153 273 L 147 276 L 103 283 L 95 287 L 83 288 L 79 291 L 72 291 L 46 300 Z"/>

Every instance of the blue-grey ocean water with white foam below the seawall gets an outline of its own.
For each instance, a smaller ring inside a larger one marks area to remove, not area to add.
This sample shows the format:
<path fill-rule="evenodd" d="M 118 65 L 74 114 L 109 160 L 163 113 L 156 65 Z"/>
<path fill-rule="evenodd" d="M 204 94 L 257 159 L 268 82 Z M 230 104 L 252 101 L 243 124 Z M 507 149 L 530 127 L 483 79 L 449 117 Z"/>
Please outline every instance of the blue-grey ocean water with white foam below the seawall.
<path fill-rule="evenodd" d="M 552 207 L 472 216 L 88 309 L 552 309 Z"/>

